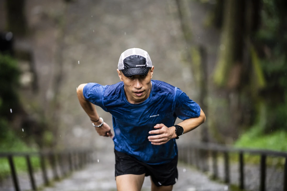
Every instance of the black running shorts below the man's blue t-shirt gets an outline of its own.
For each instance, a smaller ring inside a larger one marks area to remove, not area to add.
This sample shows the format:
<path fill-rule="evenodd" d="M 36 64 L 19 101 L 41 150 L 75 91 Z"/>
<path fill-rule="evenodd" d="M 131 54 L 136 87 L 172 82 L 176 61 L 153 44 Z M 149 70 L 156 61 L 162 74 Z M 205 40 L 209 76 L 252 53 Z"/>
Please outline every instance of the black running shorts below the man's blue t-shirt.
<path fill-rule="evenodd" d="M 178 179 L 177 156 L 166 164 L 150 165 L 137 160 L 135 157 L 115 150 L 115 176 L 123 174 L 146 174 L 151 176 L 156 186 L 174 185 Z"/>

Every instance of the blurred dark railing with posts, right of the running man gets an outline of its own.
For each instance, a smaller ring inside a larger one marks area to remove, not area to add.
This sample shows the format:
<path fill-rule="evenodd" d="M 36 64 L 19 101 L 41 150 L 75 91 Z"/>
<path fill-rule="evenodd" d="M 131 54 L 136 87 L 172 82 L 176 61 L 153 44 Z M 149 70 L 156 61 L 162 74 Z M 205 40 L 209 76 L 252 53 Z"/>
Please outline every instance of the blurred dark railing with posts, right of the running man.
<path fill-rule="evenodd" d="M 287 191 L 287 153 L 271 150 L 259 150 L 259 149 L 239 149 L 234 147 L 228 147 L 217 144 L 190 144 L 188 146 L 179 146 L 179 160 L 196 166 L 203 172 L 207 171 L 207 158 L 212 158 L 212 174 L 213 178 L 218 178 L 218 154 L 222 153 L 224 158 L 224 182 L 230 183 L 230 157 L 229 153 L 238 153 L 239 162 L 239 188 L 243 190 L 244 184 L 244 155 L 249 153 L 251 155 L 260 156 L 260 191 L 266 191 L 266 157 L 284 157 L 284 178 L 283 182 L 277 184 L 283 184 L 283 191 Z M 203 153 L 203 154 L 202 154 Z M 202 157 L 203 156 L 203 157 Z M 200 163 L 205 163 L 200 165 Z"/>

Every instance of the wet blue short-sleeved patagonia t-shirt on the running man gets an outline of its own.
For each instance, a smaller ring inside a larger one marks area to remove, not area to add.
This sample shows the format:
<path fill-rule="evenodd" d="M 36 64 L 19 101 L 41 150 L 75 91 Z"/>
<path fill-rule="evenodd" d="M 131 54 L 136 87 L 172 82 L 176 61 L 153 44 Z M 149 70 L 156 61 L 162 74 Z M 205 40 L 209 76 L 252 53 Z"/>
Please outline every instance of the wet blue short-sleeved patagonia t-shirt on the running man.
<path fill-rule="evenodd" d="M 199 117 L 200 107 L 179 88 L 168 83 L 151 80 L 152 90 L 145 101 L 131 104 L 124 93 L 123 82 L 102 86 L 88 83 L 84 98 L 100 106 L 113 116 L 115 149 L 136 157 L 147 164 L 164 164 L 177 155 L 175 139 L 162 145 L 152 145 L 148 132 L 156 124 L 172 127 L 179 117 L 182 120 Z"/>

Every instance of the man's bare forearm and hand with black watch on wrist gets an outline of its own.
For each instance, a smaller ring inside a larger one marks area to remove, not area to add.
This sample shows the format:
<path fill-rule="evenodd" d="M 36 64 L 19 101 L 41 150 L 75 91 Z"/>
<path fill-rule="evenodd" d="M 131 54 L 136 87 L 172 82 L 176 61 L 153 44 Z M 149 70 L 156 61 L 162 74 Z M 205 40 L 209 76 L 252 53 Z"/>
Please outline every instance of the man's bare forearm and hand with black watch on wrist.
<path fill-rule="evenodd" d="M 204 123 L 205 119 L 206 119 L 205 114 L 203 113 L 202 109 L 200 109 L 199 117 L 185 119 L 177 125 L 183 127 L 183 133 L 187 133 L 195 129 L 202 123 Z M 154 135 L 148 137 L 149 141 L 152 142 L 153 145 L 162 145 L 167 143 L 170 139 L 174 139 L 177 137 L 174 126 L 166 127 L 164 124 L 156 124 L 154 128 L 157 130 L 150 131 L 149 133 L 160 134 L 160 135 Z"/>

